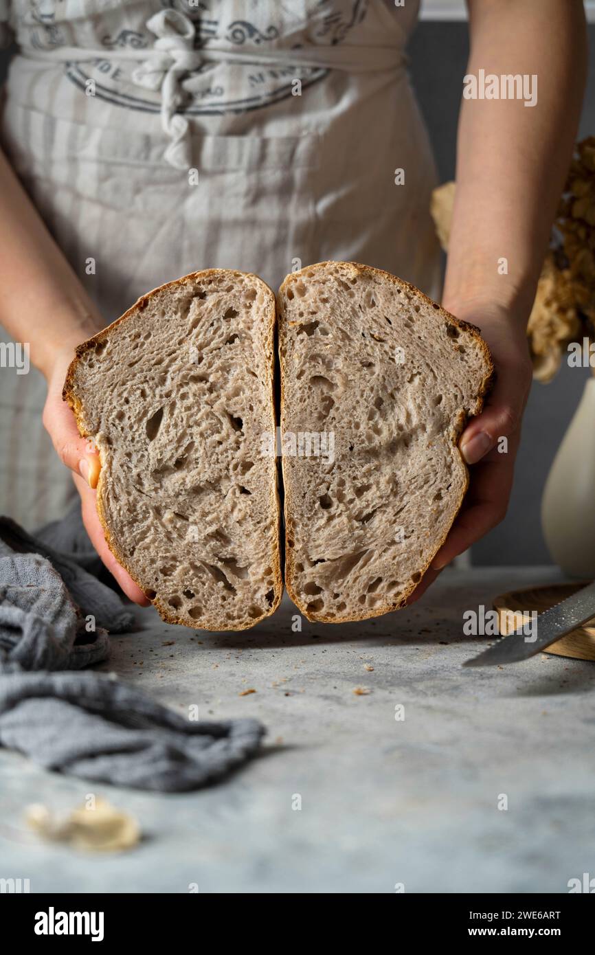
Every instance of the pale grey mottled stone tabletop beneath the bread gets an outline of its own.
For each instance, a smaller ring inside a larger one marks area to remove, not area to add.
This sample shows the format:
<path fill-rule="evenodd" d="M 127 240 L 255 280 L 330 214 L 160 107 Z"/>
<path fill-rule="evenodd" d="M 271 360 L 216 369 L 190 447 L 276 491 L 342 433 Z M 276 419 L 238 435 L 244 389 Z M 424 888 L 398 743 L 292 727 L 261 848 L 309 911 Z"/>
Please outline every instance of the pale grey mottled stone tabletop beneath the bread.
<path fill-rule="evenodd" d="M 287 598 L 241 634 L 139 611 L 105 669 L 181 712 L 258 717 L 262 755 L 210 789 L 158 796 L 0 751 L 0 878 L 32 892 L 567 892 L 595 876 L 595 664 L 461 668 L 490 642 L 463 636 L 464 610 L 558 579 L 447 571 L 409 610 L 301 632 Z M 28 804 L 66 811 L 91 792 L 138 818 L 138 848 L 89 856 L 26 830 Z"/>

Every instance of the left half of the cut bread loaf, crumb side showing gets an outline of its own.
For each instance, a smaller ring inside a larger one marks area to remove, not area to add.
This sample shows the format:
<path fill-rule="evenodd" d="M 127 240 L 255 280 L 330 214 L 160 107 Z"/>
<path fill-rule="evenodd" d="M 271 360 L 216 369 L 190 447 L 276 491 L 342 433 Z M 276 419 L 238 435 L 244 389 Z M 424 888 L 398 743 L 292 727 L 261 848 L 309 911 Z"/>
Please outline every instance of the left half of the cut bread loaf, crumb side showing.
<path fill-rule="evenodd" d="M 240 630 L 281 599 L 274 333 L 264 282 L 209 269 L 144 295 L 68 371 L 106 540 L 170 624 Z"/>

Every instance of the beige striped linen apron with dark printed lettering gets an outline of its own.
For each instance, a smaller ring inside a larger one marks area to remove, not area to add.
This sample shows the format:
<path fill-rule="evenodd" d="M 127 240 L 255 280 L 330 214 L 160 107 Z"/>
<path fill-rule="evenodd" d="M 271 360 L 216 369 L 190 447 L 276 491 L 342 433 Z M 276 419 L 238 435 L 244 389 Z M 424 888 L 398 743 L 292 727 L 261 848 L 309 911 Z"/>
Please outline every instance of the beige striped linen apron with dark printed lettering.
<path fill-rule="evenodd" d="M 208 267 L 276 289 L 355 260 L 439 295 L 436 173 L 404 55 L 417 8 L 0 0 L 17 44 L 2 146 L 104 325 Z M 36 370 L 0 369 L 0 513 L 29 528 L 74 496 L 44 400 Z"/>

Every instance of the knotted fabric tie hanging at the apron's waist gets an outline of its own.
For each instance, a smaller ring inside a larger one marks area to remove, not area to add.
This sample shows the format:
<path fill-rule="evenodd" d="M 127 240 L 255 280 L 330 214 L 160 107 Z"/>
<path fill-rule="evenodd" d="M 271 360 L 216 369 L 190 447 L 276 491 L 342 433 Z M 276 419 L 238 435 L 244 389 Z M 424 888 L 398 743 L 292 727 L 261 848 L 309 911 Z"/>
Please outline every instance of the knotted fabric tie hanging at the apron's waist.
<path fill-rule="evenodd" d="M 153 51 L 133 71 L 138 86 L 161 92 L 161 125 L 170 138 L 164 159 L 177 169 L 188 169 L 191 164 L 189 123 L 177 110 L 183 96 L 180 80 L 183 74 L 199 69 L 202 56 L 195 50 L 195 27 L 185 13 L 163 10 L 147 20 L 147 27 L 155 33 Z"/>

